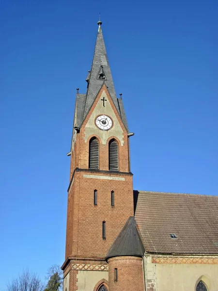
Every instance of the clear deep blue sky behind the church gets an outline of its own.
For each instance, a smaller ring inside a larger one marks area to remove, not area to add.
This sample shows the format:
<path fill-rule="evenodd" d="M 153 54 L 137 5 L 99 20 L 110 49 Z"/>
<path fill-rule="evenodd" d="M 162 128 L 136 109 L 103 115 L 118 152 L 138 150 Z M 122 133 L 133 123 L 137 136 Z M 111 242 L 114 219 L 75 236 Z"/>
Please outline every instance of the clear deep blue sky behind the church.
<path fill-rule="evenodd" d="M 62 264 L 76 88 L 101 11 L 131 137 L 134 189 L 218 195 L 218 3 L 0 3 L 0 290 Z"/>

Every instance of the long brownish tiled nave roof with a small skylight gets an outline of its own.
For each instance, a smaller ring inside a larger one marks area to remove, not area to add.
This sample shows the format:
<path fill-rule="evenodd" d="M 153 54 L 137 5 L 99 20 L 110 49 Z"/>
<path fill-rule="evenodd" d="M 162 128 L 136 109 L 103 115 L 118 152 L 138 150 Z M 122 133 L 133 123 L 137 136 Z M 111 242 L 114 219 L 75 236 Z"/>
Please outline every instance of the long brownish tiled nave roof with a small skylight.
<path fill-rule="evenodd" d="M 218 254 L 218 196 L 134 191 L 134 204 L 146 252 Z"/>

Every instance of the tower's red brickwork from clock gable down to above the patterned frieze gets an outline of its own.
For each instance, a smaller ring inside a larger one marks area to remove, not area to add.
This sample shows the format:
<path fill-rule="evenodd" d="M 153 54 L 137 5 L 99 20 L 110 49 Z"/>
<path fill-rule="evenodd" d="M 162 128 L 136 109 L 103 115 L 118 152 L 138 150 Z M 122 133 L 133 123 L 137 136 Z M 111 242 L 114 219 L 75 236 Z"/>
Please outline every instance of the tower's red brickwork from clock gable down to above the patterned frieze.
<path fill-rule="evenodd" d="M 133 185 L 132 175 L 128 174 L 129 151 L 127 132 L 105 85 L 100 90 L 80 132 L 77 134 L 74 154 L 71 160 L 71 178 L 76 167 L 88 169 L 89 142 L 84 140 L 84 130 L 103 91 L 106 92 L 111 107 L 123 130 L 124 144 L 123 146 L 119 145 L 120 171 L 116 174 L 109 172 L 107 174 L 75 172 L 68 193 L 66 258 L 70 256 L 104 258 L 126 220 L 129 216 L 133 215 Z M 94 124 L 93 127 L 96 128 Z M 98 131 L 99 129 L 96 128 L 96 133 Z M 109 135 L 109 131 L 107 134 Z M 102 145 L 99 140 L 99 169 L 104 171 L 109 170 L 108 144 L 110 138 L 108 138 L 106 145 Z M 120 172 L 125 172 L 126 175 L 122 175 Z M 101 176 L 102 179 L 99 179 L 99 177 L 90 178 L 89 176 L 91 175 Z M 97 205 L 93 205 L 94 189 L 97 189 Z M 114 207 L 110 205 L 112 190 L 115 195 Z M 106 240 L 102 239 L 103 221 L 106 221 Z"/>

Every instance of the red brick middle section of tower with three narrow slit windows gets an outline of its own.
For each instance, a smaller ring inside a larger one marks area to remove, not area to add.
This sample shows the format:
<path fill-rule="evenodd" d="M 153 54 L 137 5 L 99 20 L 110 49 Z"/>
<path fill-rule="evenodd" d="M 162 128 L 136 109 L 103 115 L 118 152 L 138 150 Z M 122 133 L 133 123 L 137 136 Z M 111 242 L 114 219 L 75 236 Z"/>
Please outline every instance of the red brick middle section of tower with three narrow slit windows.
<path fill-rule="evenodd" d="M 105 257 L 113 241 L 133 216 L 132 176 L 100 174 L 122 177 L 120 180 L 83 178 L 83 175 L 99 175 L 76 172 L 69 193 L 66 258 L 69 256 Z M 97 189 L 97 205 L 93 204 L 93 192 Z M 114 191 L 114 207 L 111 207 L 111 191 Z M 106 240 L 102 239 L 102 222 L 106 221 Z"/>

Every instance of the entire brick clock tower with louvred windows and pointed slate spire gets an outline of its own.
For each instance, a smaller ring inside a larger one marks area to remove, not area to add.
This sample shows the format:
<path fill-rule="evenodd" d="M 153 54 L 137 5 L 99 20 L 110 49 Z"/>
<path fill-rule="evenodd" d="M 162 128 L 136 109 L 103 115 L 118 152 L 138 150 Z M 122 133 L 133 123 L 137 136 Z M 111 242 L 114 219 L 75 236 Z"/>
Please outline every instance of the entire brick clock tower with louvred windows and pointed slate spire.
<path fill-rule="evenodd" d="M 98 21 L 87 92 L 77 89 L 68 188 L 63 291 L 109 290 L 106 256 L 134 215 L 129 137 Z M 108 256 L 109 257 L 109 256 Z"/>

